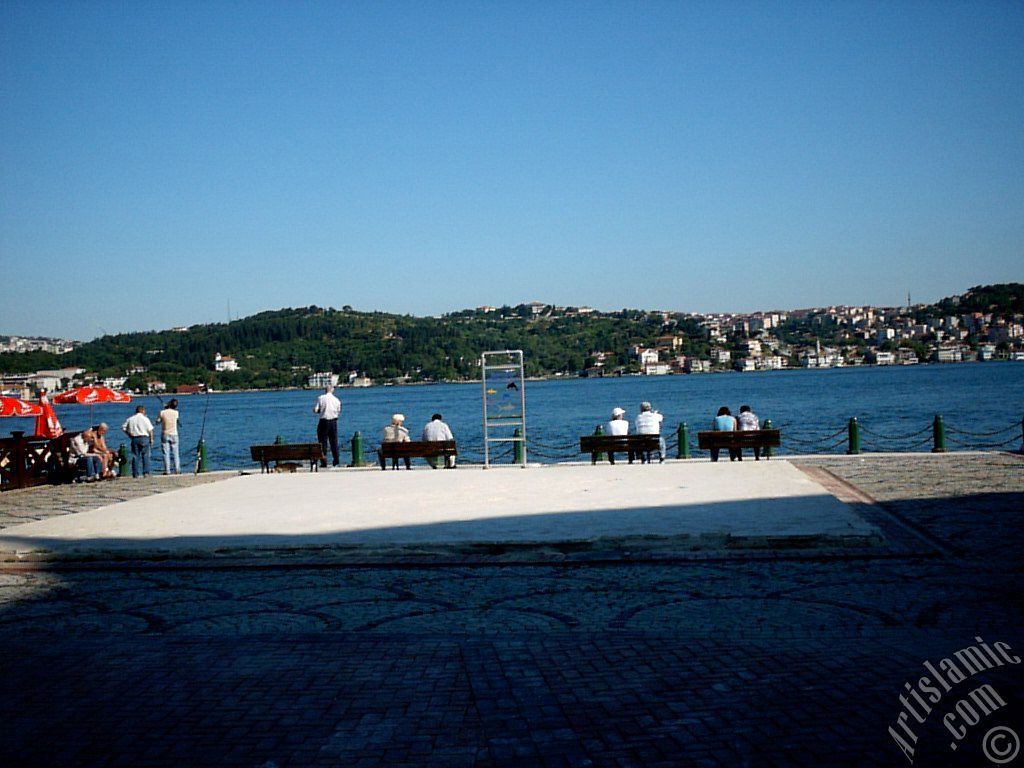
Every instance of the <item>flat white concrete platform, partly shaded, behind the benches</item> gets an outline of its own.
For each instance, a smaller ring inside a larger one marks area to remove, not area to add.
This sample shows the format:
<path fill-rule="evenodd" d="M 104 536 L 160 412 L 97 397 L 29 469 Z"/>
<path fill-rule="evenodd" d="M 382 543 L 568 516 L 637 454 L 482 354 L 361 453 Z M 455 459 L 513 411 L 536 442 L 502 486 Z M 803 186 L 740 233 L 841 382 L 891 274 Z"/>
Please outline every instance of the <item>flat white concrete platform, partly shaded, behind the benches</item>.
<path fill-rule="evenodd" d="M 131 482 L 131 480 L 125 480 Z M 244 475 L 0 531 L 0 552 L 869 537 L 785 461 Z"/>

